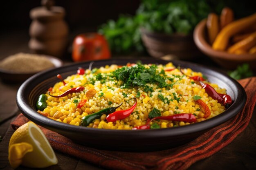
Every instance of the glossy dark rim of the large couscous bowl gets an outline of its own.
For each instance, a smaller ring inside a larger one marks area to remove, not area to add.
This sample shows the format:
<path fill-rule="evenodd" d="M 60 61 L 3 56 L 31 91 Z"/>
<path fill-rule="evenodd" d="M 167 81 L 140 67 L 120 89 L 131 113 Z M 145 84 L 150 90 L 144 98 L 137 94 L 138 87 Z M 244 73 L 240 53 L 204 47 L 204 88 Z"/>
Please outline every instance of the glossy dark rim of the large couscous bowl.
<path fill-rule="evenodd" d="M 136 61 L 136 59 L 133 59 L 133 60 Z M 107 63 L 110 63 L 110 61 L 130 62 L 131 60 L 130 59 L 118 59 L 118 60 L 110 59 L 110 60 L 98 60 L 98 61 L 93 61 L 93 62 L 102 62 L 102 63 L 105 63 L 105 65 L 106 65 Z M 176 62 L 176 63 L 181 63 L 181 64 L 189 64 L 189 65 L 193 65 L 195 67 L 201 67 L 202 69 L 207 69 L 209 71 L 213 71 L 217 75 L 224 76 L 226 79 L 231 81 L 236 86 L 236 88 L 238 90 L 238 94 L 237 94 L 238 97 L 235 100 L 235 102 L 227 110 L 225 110 L 225 114 L 222 113 L 222 114 L 217 115 L 216 117 L 213 117 L 206 121 L 202 121 L 202 122 L 199 122 L 196 124 L 191 124 L 189 126 L 181 126 L 181 127 L 177 127 L 177 128 L 163 128 L 163 129 L 149 129 L 149 130 L 108 130 L 108 129 L 87 128 L 84 126 L 73 126 L 70 124 L 65 124 L 65 123 L 49 119 L 47 117 L 44 117 L 43 115 L 38 114 L 36 112 L 36 110 L 34 110 L 34 108 L 32 108 L 32 106 L 30 106 L 27 101 L 29 94 L 27 94 L 27 95 L 25 94 L 25 92 L 29 90 L 29 88 L 30 88 L 29 86 L 31 86 L 31 83 L 33 84 L 34 80 L 39 79 L 39 77 L 42 77 L 43 75 L 47 75 L 48 73 L 50 73 L 52 71 L 56 71 L 58 69 L 66 70 L 69 67 L 78 68 L 79 66 L 81 66 L 81 64 L 84 64 L 84 65 L 90 64 L 90 62 L 78 62 L 78 63 L 62 66 L 59 68 L 54 68 L 50 71 L 40 72 L 40 73 L 37 73 L 36 75 L 33 75 L 29 79 L 27 79 L 18 89 L 17 96 L 16 96 L 17 106 L 20 109 L 21 113 L 23 115 L 25 115 L 25 117 L 27 117 L 31 121 L 34 121 L 36 124 L 39 124 L 39 125 L 41 125 L 45 128 L 48 128 L 50 130 L 54 130 L 55 132 L 69 131 L 69 132 L 77 133 L 77 132 L 85 132 L 86 131 L 86 132 L 90 132 L 90 133 L 93 133 L 96 135 L 97 134 L 100 135 L 102 133 L 108 133 L 108 135 L 111 135 L 111 136 L 119 136 L 119 135 L 123 136 L 124 135 L 123 132 L 125 131 L 126 137 L 135 137 L 136 136 L 137 139 L 142 139 L 144 137 L 148 137 L 148 138 L 166 137 L 166 136 L 175 137 L 175 136 L 200 132 L 203 130 L 208 130 L 210 128 L 213 128 L 215 126 L 218 126 L 218 125 L 224 123 L 225 121 L 231 119 L 231 117 L 234 117 L 236 114 L 238 114 L 238 112 L 240 110 L 242 110 L 242 108 L 245 105 L 247 96 L 246 96 L 244 88 L 236 80 L 232 79 L 226 73 L 218 70 L 217 68 L 209 68 L 206 66 L 202 66 L 200 64 L 194 64 L 191 62 L 184 62 L 184 61 L 178 61 L 178 60 L 165 61 L 165 60 L 159 60 L 159 59 L 150 59 L 150 60 L 143 60 L 143 61 L 147 62 L 147 63 L 150 63 L 150 62 L 152 63 L 152 61 L 155 61 L 155 63 L 158 62 L 159 64 L 161 64 L 161 62 L 162 63 Z M 48 77 L 48 79 L 49 78 L 50 77 Z M 201 127 L 204 127 L 204 128 L 202 129 Z M 58 130 L 56 131 L 56 129 L 58 129 Z"/>

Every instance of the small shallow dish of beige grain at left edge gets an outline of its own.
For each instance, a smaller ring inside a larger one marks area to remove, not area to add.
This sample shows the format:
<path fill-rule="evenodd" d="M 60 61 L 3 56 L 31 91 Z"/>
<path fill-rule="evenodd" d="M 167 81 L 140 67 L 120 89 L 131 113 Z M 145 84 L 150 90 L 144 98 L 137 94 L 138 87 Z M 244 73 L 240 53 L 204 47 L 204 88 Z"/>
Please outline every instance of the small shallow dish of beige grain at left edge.
<path fill-rule="evenodd" d="M 60 59 L 49 55 L 17 53 L 0 61 L 0 77 L 4 82 L 24 82 L 40 71 L 62 65 Z"/>

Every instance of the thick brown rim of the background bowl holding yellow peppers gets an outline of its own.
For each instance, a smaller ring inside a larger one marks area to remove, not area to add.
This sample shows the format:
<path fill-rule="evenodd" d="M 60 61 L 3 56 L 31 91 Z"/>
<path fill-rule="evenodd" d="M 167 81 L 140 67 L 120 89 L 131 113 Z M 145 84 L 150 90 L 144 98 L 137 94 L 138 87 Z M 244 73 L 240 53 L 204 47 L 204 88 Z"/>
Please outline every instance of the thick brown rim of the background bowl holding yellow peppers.
<path fill-rule="evenodd" d="M 256 54 L 241 54 L 241 55 L 237 55 L 237 54 L 231 54 L 231 53 L 227 53 L 225 51 L 217 51 L 217 50 L 213 50 L 211 48 L 211 46 L 209 45 L 209 43 L 205 40 L 205 29 L 206 29 L 206 22 L 207 19 L 204 19 L 202 21 L 200 21 L 194 29 L 193 32 L 193 39 L 194 42 L 196 44 L 196 46 L 198 46 L 198 48 L 205 54 L 209 55 L 210 57 L 213 58 L 220 58 L 220 59 L 226 59 L 226 60 L 234 60 L 234 61 L 253 61 L 256 60 Z"/>

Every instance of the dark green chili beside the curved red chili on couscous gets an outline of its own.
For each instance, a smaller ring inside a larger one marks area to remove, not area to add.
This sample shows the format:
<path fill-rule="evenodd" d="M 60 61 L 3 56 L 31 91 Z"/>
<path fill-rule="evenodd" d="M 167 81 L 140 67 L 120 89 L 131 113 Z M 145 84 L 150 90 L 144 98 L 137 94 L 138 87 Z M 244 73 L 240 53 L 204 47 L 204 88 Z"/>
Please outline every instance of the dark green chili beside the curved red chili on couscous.
<path fill-rule="evenodd" d="M 119 108 L 123 103 L 121 103 L 119 106 L 117 107 L 110 107 L 110 108 L 105 108 L 103 110 L 100 110 L 99 112 L 96 112 L 96 113 L 93 113 L 91 115 L 88 115 L 88 116 L 85 116 L 82 118 L 82 121 L 81 121 L 81 125 L 82 126 L 88 126 L 90 123 L 92 123 L 92 121 L 94 121 L 95 119 L 99 119 L 101 118 L 102 115 L 106 114 L 110 114 L 110 113 L 113 113 L 115 112 L 115 110 L 117 108 Z"/>

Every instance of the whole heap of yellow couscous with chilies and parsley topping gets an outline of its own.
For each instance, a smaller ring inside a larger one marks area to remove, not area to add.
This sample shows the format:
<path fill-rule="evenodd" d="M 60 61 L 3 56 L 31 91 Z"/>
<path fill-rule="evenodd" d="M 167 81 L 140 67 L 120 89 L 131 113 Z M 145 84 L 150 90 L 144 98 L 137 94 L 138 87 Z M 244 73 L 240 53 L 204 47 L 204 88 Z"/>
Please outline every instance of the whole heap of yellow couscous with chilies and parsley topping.
<path fill-rule="evenodd" d="M 45 100 L 40 96 L 37 108 L 50 119 L 90 128 L 185 126 L 225 111 L 226 90 L 206 79 L 202 73 L 172 63 L 79 68 L 77 74 L 49 88 L 43 94 Z"/>

